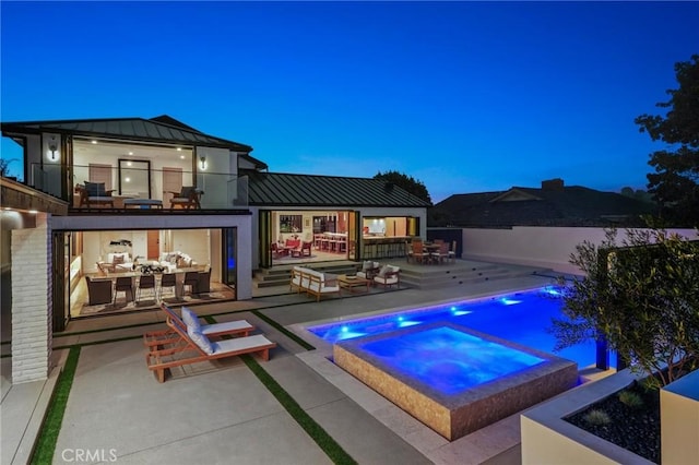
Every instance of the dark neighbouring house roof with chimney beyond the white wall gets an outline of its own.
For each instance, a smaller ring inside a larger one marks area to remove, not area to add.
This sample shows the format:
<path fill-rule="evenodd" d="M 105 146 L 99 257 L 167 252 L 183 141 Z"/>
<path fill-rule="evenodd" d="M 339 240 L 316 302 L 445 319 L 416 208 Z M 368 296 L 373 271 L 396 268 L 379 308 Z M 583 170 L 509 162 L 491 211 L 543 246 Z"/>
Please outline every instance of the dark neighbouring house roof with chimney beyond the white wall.
<path fill-rule="evenodd" d="M 508 201 L 517 194 L 521 200 Z M 525 194 L 522 198 L 521 194 Z M 559 190 L 512 188 L 508 191 L 455 194 L 428 212 L 429 226 L 637 226 L 654 205 L 615 192 L 579 186 Z"/>

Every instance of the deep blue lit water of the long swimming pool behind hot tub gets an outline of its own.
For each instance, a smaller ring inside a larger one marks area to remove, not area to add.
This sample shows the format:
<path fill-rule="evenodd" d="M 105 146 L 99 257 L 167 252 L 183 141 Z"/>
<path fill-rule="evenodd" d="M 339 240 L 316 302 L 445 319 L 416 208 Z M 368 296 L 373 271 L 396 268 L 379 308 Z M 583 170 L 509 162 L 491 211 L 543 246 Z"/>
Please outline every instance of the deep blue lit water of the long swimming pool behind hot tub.
<path fill-rule="evenodd" d="M 485 299 L 462 300 L 322 324 L 308 327 L 308 331 L 334 344 L 418 324 L 447 322 L 554 354 L 576 361 L 580 368 L 594 365 L 595 344 L 592 341 L 554 351 L 556 337 L 547 330 L 552 327 L 553 318 L 561 318 L 562 303 L 560 289 L 547 286 Z"/>

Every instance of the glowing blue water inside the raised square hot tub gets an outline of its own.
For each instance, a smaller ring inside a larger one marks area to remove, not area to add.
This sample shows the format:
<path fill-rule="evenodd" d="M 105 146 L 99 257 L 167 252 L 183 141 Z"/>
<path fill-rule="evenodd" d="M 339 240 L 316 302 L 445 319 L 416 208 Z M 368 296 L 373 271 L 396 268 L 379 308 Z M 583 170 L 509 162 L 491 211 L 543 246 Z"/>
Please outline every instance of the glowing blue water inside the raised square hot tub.
<path fill-rule="evenodd" d="M 407 377 L 442 394 L 457 394 L 544 361 L 449 326 L 357 345 Z"/>

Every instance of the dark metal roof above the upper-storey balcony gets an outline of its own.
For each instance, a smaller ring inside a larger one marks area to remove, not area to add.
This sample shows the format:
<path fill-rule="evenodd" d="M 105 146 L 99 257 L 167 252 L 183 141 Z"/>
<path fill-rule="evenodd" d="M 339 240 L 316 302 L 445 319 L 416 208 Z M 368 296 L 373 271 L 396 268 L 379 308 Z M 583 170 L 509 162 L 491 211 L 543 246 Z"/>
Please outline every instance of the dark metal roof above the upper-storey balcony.
<path fill-rule="evenodd" d="M 154 119 L 79 119 L 57 121 L 3 122 L 3 133 L 40 133 L 82 135 L 85 138 L 107 138 L 116 140 L 142 141 L 182 145 L 205 145 L 250 152 L 252 147 L 238 142 L 214 138 L 188 127 L 174 118 L 163 115 Z"/>

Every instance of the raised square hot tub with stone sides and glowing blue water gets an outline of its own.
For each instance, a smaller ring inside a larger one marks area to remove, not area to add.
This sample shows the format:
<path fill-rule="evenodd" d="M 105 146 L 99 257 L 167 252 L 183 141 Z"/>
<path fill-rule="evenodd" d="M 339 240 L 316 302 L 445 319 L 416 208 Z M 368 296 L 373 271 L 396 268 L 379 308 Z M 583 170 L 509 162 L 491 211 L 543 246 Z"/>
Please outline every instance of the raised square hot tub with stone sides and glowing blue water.
<path fill-rule="evenodd" d="M 573 361 L 449 323 L 341 342 L 333 357 L 450 441 L 578 381 Z"/>

